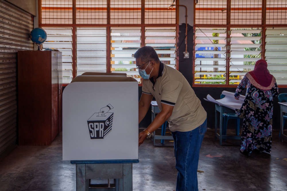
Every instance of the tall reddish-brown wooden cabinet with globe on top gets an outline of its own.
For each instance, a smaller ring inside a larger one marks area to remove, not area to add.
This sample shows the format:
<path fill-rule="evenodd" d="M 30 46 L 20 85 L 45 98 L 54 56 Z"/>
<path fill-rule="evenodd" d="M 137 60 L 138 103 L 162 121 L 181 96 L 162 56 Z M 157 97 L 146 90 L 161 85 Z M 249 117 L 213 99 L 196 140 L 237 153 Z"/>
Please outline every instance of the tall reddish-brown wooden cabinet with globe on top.
<path fill-rule="evenodd" d="M 61 130 L 61 65 L 61 52 L 18 51 L 19 145 L 51 145 Z"/>

